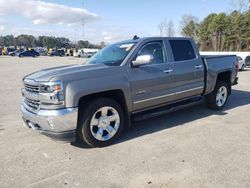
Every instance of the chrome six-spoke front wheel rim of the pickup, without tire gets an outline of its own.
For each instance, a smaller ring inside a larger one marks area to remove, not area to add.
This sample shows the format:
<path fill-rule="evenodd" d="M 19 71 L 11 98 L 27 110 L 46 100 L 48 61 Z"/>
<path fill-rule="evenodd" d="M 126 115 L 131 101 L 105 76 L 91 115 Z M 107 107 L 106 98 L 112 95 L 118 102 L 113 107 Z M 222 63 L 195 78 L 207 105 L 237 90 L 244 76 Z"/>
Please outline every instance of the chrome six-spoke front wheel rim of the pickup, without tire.
<path fill-rule="evenodd" d="M 110 106 L 98 109 L 91 118 L 90 131 L 99 141 L 107 141 L 114 137 L 120 126 L 120 115 Z"/>

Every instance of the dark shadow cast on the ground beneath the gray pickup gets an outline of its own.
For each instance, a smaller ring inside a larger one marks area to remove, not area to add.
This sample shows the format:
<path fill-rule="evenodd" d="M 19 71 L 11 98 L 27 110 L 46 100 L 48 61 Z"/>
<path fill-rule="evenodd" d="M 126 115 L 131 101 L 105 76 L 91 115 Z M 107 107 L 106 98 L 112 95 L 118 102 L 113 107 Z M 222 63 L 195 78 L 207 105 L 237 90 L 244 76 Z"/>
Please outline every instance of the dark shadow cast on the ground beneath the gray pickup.
<path fill-rule="evenodd" d="M 193 107 L 188 107 L 148 120 L 132 122 L 131 128 L 126 131 L 113 145 L 172 127 L 186 126 L 185 123 L 203 119 L 211 115 L 224 117 L 227 114 L 232 113 L 228 112 L 228 110 L 239 108 L 248 104 L 250 104 L 250 92 L 232 90 L 232 94 L 230 95 L 229 100 L 222 111 L 210 110 L 202 101 Z M 90 148 L 87 144 L 82 143 L 75 143 L 74 146 L 85 149 Z"/>

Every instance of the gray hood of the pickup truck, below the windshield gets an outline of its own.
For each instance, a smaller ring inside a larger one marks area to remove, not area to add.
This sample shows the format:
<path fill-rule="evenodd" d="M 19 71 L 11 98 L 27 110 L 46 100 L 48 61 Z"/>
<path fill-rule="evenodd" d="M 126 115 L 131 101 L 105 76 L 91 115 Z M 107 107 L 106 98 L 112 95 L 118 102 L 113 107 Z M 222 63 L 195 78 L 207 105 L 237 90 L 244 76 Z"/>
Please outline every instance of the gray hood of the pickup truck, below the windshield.
<path fill-rule="evenodd" d="M 38 82 L 47 82 L 51 80 L 62 79 L 70 75 L 78 75 L 79 73 L 84 74 L 86 71 L 99 70 L 102 68 L 107 68 L 106 65 L 67 65 L 60 67 L 53 67 L 48 69 L 43 69 L 34 73 L 31 73 L 24 77 L 24 79 L 31 79 Z M 66 78 L 65 78 L 66 79 Z"/>

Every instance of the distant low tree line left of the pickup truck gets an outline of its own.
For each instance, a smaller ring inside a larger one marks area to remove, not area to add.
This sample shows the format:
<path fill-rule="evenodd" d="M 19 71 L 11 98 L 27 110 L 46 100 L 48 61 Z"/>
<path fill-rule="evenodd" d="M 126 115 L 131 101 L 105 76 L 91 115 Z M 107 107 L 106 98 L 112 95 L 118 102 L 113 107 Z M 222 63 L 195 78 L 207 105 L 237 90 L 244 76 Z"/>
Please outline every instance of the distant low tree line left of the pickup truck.
<path fill-rule="evenodd" d="M 51 37 L 32 35 L 13 35 L 0 36 L 0 46 L 24 46 L 24 47 L 47 47 L 47 48 L 102 48 L 105 46 L 104 42 L 99 45 L 92 44 L 89 41 L 80 40 L 76 43 L 71 42 L 68 38 L 64 37 Z"/>

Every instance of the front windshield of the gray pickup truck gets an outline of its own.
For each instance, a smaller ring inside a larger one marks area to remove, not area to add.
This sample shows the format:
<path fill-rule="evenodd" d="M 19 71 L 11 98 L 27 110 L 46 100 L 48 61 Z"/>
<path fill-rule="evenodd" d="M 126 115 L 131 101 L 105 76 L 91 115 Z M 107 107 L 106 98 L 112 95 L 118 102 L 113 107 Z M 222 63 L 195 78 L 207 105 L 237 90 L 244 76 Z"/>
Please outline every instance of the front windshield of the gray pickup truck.
<path fill-rule="evenodd" d="M 109 45 L 91 57 L 87 64 L 106 64 L 110 66 L 119 66 L 134 46 L 135 42 Z"/>

